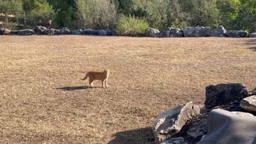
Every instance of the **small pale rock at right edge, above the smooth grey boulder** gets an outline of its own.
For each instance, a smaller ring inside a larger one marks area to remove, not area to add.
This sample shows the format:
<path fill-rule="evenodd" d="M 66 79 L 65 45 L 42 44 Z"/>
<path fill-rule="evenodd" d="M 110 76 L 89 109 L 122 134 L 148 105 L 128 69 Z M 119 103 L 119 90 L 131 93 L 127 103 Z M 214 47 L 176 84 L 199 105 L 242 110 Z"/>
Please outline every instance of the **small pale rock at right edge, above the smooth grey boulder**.
<path fill-rule="evenodd" d="M 256 95 L 243 98 L 240 106 L 247 111 L 256 112 Z"/>

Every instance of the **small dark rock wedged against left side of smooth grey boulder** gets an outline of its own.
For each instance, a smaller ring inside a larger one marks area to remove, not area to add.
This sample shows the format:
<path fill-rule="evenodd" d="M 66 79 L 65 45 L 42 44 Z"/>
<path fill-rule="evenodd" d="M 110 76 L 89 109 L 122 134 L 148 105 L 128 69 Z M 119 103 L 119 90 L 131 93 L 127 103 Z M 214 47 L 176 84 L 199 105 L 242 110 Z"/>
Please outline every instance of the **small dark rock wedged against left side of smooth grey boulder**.
<path fill-rule="evenodd" d="M 186 131 L 186 134 L 188 134 L 192 138 L 198 138 L 202 137 L 207 131 L 207 120 L 202 119 L 198 122 L 194 122 L 192 126 L 190 126 L 190 129 Z"/>

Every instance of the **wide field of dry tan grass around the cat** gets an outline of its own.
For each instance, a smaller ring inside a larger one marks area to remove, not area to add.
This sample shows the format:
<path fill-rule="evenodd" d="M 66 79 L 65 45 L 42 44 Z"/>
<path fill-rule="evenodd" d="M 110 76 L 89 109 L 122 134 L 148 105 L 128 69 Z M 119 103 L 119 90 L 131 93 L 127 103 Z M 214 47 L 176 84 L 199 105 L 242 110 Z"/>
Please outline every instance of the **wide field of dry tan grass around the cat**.
<path fill-rule="evenodd" d="M 0 143 L 154 143 L 154 119 L 206 86 L 256 86 L 256 38 L 0 36 L 0 53 Z M 106 89 L 80 80 L 105 68 Z"/>

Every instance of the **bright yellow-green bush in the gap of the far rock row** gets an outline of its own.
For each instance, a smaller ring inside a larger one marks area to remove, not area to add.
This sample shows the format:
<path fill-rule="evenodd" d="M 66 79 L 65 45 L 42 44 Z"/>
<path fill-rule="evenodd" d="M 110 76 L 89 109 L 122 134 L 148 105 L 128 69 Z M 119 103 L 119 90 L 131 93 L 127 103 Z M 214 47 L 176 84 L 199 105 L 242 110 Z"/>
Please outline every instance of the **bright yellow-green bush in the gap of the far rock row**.
<path fill-rule="evenodd" d="M 119 35 L 142 36 L 146 33 L 148 27 L 149 24 L 145 19 L 121 15 L 116 32 Z"/>

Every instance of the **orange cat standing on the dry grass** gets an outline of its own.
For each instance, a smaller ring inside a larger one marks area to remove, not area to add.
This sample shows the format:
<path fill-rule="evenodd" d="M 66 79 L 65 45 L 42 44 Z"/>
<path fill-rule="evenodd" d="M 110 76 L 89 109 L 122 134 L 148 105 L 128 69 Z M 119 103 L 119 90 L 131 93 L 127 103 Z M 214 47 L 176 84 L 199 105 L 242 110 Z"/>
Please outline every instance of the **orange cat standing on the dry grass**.
<path fill-rule="evenodd" d="M 110 69 L 104 70 L 103 72 L 89 71 L 88 73 L 86 73 L 86 77 L 82 78 L 81 80 L 86 80 L 86 78 L 89 78 L 89 84 L 91 87 L 93 86 L 94 80 L 101 80 L 102 87 L 105 87 L 105 86 L 107 87 L 107 79 L 109 78 L 109 75 L 110 75 Z"/>

